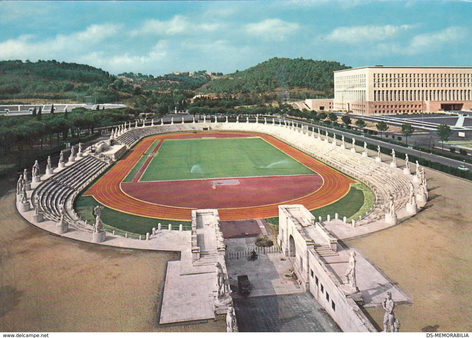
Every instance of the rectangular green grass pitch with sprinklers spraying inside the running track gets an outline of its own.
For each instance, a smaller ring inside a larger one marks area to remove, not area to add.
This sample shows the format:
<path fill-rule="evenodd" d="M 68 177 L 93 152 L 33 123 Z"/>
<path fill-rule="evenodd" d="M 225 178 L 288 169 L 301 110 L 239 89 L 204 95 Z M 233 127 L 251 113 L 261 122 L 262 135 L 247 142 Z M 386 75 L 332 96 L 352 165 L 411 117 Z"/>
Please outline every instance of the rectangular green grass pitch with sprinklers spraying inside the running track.
<path fill-rule="evenodd" d="M 315 174 L 259 137 L 164 140 L 140 181 Z"/>

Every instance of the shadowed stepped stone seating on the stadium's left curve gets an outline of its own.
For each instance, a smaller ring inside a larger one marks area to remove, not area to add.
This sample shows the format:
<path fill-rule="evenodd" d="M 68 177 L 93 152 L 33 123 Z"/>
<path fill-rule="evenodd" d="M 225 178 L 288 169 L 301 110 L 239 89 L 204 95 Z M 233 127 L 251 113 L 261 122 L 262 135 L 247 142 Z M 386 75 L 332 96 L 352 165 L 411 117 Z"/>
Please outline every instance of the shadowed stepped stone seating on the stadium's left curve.
<path fill-rule="evenodd" d="M 44 181 L 34 190 L 32 196 L 38 194 L 41 209 L 47 219 L 58 222 L 61 217 L 61 207 L 66 206 L 66 219 L 69 226 L 90 230 L 90 225 L 87 225 L 72 210 L 72 203 L 80 190 L 108 166 L 109 163 L 106 161 L 95 156 L 86 156 Z M 32 204 L 34 204 L 34 199 Z"/>

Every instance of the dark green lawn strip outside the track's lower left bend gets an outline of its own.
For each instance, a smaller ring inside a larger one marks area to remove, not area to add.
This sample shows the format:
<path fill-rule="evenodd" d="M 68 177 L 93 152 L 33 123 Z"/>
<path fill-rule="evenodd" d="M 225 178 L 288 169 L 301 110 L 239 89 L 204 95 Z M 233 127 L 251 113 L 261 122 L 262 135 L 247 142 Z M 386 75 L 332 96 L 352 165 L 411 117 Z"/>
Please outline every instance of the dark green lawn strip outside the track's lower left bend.
<path fill-rule="evenodd" d="M 147 232 L 152 233 L 152 228 L 157 229 L 158 223 L 162 224 L 163 229 L 167 229 L 169 224 L 172 224 L 172 229 L 175 230 L 178 230 L 179 224 L 183 225 L 184 230 L 192 228 L 190 221 L 160 220 L 116 211 L 98 203 L 92 196 L 79 196 L 76 200 L 76 211 L 84 220 L 93 224 L 95 222 L 93 208 L 97 205 L 104 207 L 101 211 L 103 227 L 109 231 L 115 230 L 117 235 L 124 236 L 127 233 L 128 237 L 146 236 Z"/>

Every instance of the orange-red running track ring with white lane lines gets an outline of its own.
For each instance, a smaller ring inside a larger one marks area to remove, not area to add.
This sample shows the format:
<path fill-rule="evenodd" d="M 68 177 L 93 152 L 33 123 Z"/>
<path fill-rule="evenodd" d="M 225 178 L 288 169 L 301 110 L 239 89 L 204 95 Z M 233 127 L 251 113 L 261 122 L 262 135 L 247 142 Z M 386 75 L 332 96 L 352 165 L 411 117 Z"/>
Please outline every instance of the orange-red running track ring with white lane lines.
<path fill-rule="evenodd" d="M 276 186 L 271 184 L 269 186 L 264 186 L 262 196 L 266 195 L 268 198 L 260 201 L 253 201 L 253 206 L 249 207 L 237 207 L 235 204 L 232 204 L 231 208 L 218 208 L 220 220 L 248 220 L 255 218 L 270 218 L 278 216 L 278 205 L 279 204 L 303 204 L 307 209 L 313 210 L 320 208 L 324 205 L 333 203 L 346 195 L 349 191 L 350 184 L 355 181 L 345 175 L 337 172 L 334 169 L 329 168 L 323 163 L 316 161 L 315 159 L 305 155 L 303 152 L 300 152 L 289 145 L 279 141 L 278 139 L 264 134 L 250 134 L 250 133 L 181 133 L 181 134 L 169 134 L 169 135 L 155 135 L 143 139 L 135 148 L 129 152 L 126 157 L 118 161 L 109 171 L 103 175 L 84 195 L 93 195 L 93 197 L 103 205 L 110 207 L 111 209 L 123 211 L 130 214 L 135 214 L 138 216 L 146 216 L 160 219 L 168 220 L 190 220 L 191 211 L 195 208 L 192 207 L 178 207 L 178 206 L 169 206 L 160 203 L 150 203 L 145 201 L 140 201 L 126 194 L 120 187 L 123 179 L 130 172 L 131 169 L 135 166 L 137 161 L 143 155 L 152 142 L 156 139 L 168 139 L 168 138 L 200 138 L 200 137 L 244 137 L 244 136 L 258 136 L 274 145 L 281 151 L 285 152 L 287 155 L 293 157 L 295 160 L 303 163 L 308 168 L 317 172 L 320 177 L 323 179 L 322 186 L 317 190 L 317 186 L 313 186 L 309 194 L 304 194 L 303 196 L 297 198 L 290 198 L 285 201 L 278 201 L 272 203 L 270 201 L 271 189 Z M 312 175 L 307 175 L 312 176 Z M 317 176 L 317 175 L 315 175 Z M 294 180 L 295 177 L 299 176 L 289 176 Z M 261 177 L 253 177 L 261 178 Z M 239 180 L 239 178 L 238 178 Z M 204 180 L 202 180 L 204 181 Z M 149 182 L 152 183 L 152 182 Z M 139 183 L 142 184 L 142 183 Z M 123 183 L 123 185 L 125 185 Z M 295 186 L 295 181 L 287 182 L 287 187 Z M 222 188 L 223 186 L 216 186 L 215 190 Z M 124 188 L 126 190 L 126 188 Z M 154 191 L 153 193 L 158 194 L 159 192 Z M 171 194 L 171 193 L 170 193 Z M 195 200 L 198 200 L 200 196 L 194 194 L 190 189 L 187 190 L 189 196 L 194 197 Z M 169 193 L 167 193 L 169 196 Z M 228 191 L 228 200 L 234 201 L 244 201 L 247 199 L 247 196 L 238 193 L 235 189 L 233 192 Z M 169 200 L 176 200 L 178 196 L 169 196 Z M 254 205 L 259 203 L 260 205 Z M 168 204 L 168 203 L 166 203 Z M 213 207 L 214 208 L 214 207 Z"/>

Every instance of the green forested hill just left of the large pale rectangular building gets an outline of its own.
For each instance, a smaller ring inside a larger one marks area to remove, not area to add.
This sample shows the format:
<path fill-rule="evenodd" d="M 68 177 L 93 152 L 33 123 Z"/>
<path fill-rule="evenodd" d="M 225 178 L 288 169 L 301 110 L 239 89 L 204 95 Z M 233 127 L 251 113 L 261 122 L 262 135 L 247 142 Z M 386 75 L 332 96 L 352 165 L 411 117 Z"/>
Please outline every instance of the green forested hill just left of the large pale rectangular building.
<path fill-rule="evenodd" d="M 244 71 L 211 80 L 202 87 L 208 93 L 264 93 L 304 88 L 333 91 L 333 71 L 348 69 L 336 61 L 273 58 Z"/>

